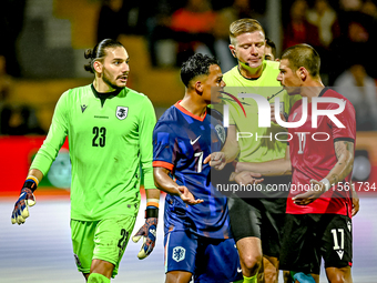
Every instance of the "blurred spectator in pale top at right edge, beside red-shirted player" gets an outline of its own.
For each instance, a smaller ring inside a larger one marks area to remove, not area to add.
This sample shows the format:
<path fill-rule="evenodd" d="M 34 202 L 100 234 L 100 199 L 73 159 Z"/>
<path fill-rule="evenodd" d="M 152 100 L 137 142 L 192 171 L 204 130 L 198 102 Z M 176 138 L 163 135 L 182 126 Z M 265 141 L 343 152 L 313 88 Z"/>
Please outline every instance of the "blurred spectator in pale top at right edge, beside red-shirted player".
<path fill-rule="evenodd" d="M 363 64 L 353 64 L 336 79 L 336 91 L 345 95 L 356 110 L 356 130 L 377 130 L 376 83 Z"/>

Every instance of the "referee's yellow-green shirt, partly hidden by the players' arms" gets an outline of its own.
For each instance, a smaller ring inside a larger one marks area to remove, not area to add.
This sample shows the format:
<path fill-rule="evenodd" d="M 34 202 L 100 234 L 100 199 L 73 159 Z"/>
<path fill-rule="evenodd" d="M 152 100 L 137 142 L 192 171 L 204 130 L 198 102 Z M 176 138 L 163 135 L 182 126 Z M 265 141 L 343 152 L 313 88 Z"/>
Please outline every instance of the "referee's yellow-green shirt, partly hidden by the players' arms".
<path fill-rule="evenodd" d="M 237 97 L 240 93 L 259 94 L 264 98 L 271 98 L 269 103 L 274 103 L 279 98 L 279 110 L 289 114 L 293 104 L 300 99 L 299 95 L 289 97 L 286 91 L 282 90 L 281 83 L 276 80 L 279 73 L 279 63 L 274 61 L 263 61 L 263 72 L 258 79 L 246 79 L 234 67 L 224 74 L 226 83 L 225 91 Z M 278 93 L 277 95 L 274 95 Z M 276 123 L 271 128 L 258 127 L 258 108 L 254 99 L 238 98 L 243 104 L 246 117 L 236 103 L 230 105 L 230 124 L 236 127 L 240 134 L 240 155 L 241 162 L 265 162 L 285 156 L 286 140 L 284 134 L 286 130 Z M 277 134 L 277 135 L 276 135 Z M 276 139 L 277 138 L 277 139 Z"/>

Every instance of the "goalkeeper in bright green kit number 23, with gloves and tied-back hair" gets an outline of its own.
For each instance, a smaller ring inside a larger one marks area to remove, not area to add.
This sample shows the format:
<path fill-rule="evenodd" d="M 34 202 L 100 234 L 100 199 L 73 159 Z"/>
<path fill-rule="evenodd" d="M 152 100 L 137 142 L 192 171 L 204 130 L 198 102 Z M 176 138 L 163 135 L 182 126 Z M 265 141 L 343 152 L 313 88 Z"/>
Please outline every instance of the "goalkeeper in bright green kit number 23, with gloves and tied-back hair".
<path fill-rule="evenodd" d="M 43 145 L 33 160 L 12 212 L 22 224 L 35 203 L 33 191 L 54 161 L 65 137 L 72 163 L 71 236 L 78 270 L 88 282 L 110 282 L 135 224 L 140 206 L 140 168 L 146 191 L 144 237 L 139 259 L 155 244 L 160 191 L 153 180 L 152 134 L 155 113 L 147 97 L 125 87 L 129 54 L 105 39 L 85 51 L 92 84 L 59 99 Z"/>

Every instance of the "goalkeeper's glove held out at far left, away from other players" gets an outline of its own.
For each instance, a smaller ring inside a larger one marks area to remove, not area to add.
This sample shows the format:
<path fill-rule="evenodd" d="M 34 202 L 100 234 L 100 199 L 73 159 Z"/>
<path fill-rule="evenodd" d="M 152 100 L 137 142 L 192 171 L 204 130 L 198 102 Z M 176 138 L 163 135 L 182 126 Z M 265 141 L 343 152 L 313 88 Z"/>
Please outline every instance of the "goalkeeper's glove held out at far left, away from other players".
<path fill-rule="evenodd" d="M 33 206 L 35 204 L 35 196 L 33 192 L 37 189 L 38 183 L 33 179 L 27 179 L 24 181 L 20 196 L 14 204 L 14 209 L 12 212 L 12 224 L 23 224 L 26 219 L 29 218 L 29 206 Z"/>

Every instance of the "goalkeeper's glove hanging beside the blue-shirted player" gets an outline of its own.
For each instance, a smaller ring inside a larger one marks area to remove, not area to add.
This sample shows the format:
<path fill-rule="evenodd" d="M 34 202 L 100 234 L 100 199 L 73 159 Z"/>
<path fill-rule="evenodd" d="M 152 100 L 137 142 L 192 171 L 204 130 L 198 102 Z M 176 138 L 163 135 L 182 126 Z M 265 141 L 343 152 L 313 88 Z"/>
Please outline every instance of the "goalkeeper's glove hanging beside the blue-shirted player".
<path fill-rule="evenodd" d="M 157 221 L 159 221 L 159 209 L 155 206 L 147 206 L 145 210 L 145 224 L 137 231 L 132 237 L 134 243 L 143 236 L 143 245 L 137 253 L 140 260 L 145 259 L 153 251 L 155 240 L 157 236 Z"/>

